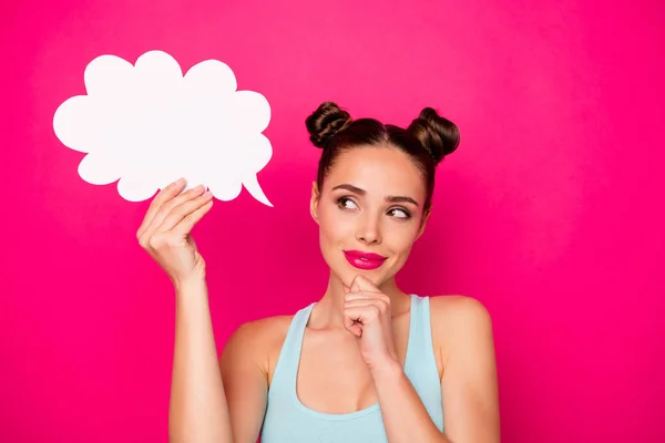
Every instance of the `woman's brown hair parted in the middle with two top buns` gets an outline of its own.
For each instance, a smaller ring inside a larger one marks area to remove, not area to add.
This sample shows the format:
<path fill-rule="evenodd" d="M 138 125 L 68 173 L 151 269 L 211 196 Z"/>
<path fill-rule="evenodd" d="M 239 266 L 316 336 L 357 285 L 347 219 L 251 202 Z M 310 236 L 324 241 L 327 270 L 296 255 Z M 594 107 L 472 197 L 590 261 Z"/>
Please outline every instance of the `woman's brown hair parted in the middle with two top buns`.
<path fill-rule="evenodd" d="M 307 117 L 305 124 L 311 143 L 324 150 L 316 179 L 319 190 L 341 153 L 360 146 L 389 145 L 407 153 L 421 171 L 426 183 L 426 212 L 431 207 L 436 166 L 460 143 L 460 133 L 454 123 L 431 107 L 423 109 L 405 130 L 375 119 L 352 120 L 336 103 L 324 102 Z"/>

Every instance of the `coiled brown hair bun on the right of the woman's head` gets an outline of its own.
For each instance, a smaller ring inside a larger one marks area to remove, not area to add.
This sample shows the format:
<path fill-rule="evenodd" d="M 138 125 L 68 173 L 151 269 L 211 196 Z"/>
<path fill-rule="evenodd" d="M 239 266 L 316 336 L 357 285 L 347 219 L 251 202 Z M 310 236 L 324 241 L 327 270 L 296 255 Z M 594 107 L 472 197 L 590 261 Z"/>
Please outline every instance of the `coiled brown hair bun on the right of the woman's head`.
<path fill-rule="evenodd" d="M 460 132 L 454 123 L 426 107 L 407 128 L 434 158 L 438 164 L 460 144 Z"/>

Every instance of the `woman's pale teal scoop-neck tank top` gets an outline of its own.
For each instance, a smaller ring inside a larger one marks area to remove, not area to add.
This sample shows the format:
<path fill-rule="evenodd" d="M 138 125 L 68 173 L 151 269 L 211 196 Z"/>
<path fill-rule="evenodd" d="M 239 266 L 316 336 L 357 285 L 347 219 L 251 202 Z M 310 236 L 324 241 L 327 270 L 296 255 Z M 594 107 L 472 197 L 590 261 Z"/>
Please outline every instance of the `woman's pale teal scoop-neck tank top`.
<path fill-rule="evenodd" d="M 432 346 L 429 297 L 411 295 L 409 338 L 405 373 L 418 392 L 433 423 L 443 432 L 441 382 Z M 262 426 L 262 443 L 386 443 L 386 430 L 379 403 L 364 410 L 328 414 L 300 403 L 296 377 L 305 328 L 311 303 L 293 318 L 279 352 L 268 390 Z"/>

